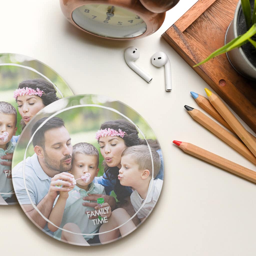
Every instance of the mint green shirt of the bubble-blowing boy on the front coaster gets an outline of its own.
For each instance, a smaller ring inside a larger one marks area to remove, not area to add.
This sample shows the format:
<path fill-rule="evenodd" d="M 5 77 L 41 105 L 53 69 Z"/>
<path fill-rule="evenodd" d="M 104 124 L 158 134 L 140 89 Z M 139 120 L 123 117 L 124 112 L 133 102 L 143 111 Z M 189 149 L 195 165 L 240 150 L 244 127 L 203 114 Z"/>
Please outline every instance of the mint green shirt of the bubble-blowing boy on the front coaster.
<path fill-rule="evenodd" d="M 83 206 L 82 203 L 89 202 L 83 200 L 84 196 L 88 194 L 103 194 L 106 195 L 105 189 L 100 184 L 90 183 L 88 191 L 75 186 L 71 191 L 69 191 L 69 196 L 66 201 L 65 210 L 63 213 L 63 218 L 60 224 L 60 228 L 67 223 L 75 223 L 80 228 L 82 234 L 93 234 L 98 233 L 101 224 L 96 224 L 96 221 L 89 219 L 85 211 L 93 211 L 93 207 Z M 59 196 L 55 199 L 54 206 L 58 200 Z M 95 223 L 95 225 L 94 225 Z M 61 229 L 54 232 L 54 238 L 61 239 Z M 89 240 L 94 237 L 94 235 L 84 235 L 85 240 Z"/>

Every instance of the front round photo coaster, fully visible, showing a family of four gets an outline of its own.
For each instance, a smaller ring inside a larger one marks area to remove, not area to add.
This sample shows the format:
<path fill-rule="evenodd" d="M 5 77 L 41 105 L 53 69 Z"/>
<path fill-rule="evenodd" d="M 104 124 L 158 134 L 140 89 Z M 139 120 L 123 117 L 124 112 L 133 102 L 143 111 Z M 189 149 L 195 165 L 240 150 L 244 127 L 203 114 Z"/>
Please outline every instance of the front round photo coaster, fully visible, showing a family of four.
<path fill-rule="evenodd" d="M 32 222 L 66 243 L 116 241 L 149 216 L 164 163 L 147 122 L 104 96 L 53 102 L 25 127 L 12 162 L 15 194 Z"/>

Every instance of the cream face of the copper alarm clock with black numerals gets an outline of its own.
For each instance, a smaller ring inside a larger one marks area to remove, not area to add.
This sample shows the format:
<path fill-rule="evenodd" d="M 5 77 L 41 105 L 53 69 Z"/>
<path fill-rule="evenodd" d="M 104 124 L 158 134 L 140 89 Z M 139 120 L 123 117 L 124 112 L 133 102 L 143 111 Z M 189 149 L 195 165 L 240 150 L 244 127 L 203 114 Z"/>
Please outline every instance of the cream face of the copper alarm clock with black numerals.
<path fill-rule="evenodd" d="M 133 38 L 147 30 L 144 20 L 130 10 L 106 4 L 87 4 L 72 12 L 73 21 L 82 29 L 108 38 Z"/>

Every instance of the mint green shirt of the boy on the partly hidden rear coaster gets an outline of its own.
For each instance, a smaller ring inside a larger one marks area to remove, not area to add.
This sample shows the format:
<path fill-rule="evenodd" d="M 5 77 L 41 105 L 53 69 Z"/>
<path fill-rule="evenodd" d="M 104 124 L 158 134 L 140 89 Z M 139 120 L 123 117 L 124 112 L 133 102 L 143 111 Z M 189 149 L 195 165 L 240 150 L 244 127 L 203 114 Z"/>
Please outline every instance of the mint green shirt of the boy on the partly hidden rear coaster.
<path fill-rule="evenodd" d="M 16 143 L 9 141 L 7 143 L 6 150 L 0 148 L 0 157 L 6 155 L 6 153 L 13 153 Z M 1 162 L 6 162 L 10 160 L 0 159 Z M 4 172 L 4 170 L 7 170 Z M 0 165 L 0 196 L 3 199 L 7 199 L 14 194 L 13 182 L 12 179 L 7 178 L 9 172 L 11 170 L 11 166 Z M 11 174 L 11 173 L 10 173 Z"/>

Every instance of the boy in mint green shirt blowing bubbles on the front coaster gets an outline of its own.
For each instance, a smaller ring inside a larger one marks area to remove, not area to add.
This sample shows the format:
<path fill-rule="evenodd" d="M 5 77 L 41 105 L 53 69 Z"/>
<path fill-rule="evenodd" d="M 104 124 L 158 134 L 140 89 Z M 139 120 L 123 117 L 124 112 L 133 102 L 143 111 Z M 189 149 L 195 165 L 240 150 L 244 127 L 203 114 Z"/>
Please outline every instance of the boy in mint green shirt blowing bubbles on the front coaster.
<path fill-rule="evenodd" d="M 104 203 L 101 207 L 96 206 L 95 208 L 87 207 L 87 209 L 84 209 L 82 207 L 83 196 L 88 196 L 88 194 L 105 194 L 102 185 L 93 183 L 94 177 L 97 177 L 99 172 L 98 165 L 99 152 L 92 144 L 78 143 L 73 146 L 71 173 L 74 175 L 74 179 L 78 180 L 76 185 L 70 187 L 73 190 L 69 192 L 60 191 L 59 196 L 55 200 L 49 221 L 57 227 L 50 222 L 48 223 L 48 227 L 54 232 L 55 238 L 72 244 L 88 246 L 89 244 L 113 241 L 120 237 L 120 235 L 127 235 L 135 229 L 132 220 L 129 220 L 129 214 L 122 208 L 111 212 L 111 207 L 108 203 Z M 79 179 L 86 173 L 91 175 L 87 183 Z M 103 224 L 102 221 L 91 218 L 94 215 L 90 215 L 90 212 L 93 214 L 94 209 L 100 213 L 104 220 Z M 90 212 L 85 213 L 85 210 Z M 115 229 L 126 221 L 128 222 L 125 225 Z M 94 235 L 94 233 L 101 233 L 112 229 L 115 230 Z M 82 235 L 82 233 L 91 235 Z"/>

